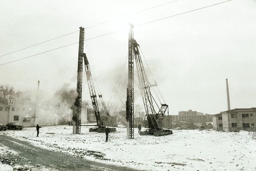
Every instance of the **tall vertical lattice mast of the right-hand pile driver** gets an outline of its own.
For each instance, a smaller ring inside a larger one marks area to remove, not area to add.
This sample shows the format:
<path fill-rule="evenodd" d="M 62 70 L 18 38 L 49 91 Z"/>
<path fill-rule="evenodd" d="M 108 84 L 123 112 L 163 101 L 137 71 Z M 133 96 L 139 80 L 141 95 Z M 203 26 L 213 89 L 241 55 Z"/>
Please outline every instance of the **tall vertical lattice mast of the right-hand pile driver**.
<path fill-rule="evenodd" d="M 126 126 L 127 138 L 134 138 L 134 77 L 133 77 L 133 25 L 130 23 L 129 43 L 128 43 L 128 85 L 127 85 L 127 101 L 126 101 Z"/>

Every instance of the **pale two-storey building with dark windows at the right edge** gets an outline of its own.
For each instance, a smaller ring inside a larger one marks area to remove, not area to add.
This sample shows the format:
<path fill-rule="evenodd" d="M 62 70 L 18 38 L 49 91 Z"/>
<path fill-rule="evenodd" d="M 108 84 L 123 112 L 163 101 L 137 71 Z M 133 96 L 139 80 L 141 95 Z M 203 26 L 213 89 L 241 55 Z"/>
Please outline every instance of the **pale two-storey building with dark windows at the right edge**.
<path fill-rule="evenodd" d="M 256 107 L 232 109 L 213 115 L 214 130 L 256 131 Z"/>

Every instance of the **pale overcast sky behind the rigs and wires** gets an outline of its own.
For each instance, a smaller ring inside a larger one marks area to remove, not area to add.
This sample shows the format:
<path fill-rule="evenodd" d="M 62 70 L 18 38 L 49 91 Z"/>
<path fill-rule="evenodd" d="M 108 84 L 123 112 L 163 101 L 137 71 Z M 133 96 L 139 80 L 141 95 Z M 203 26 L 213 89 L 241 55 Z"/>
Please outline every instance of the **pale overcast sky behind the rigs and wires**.
<path fill-rule="evenodd" d="M 85 53 L 106 101 L 113 94 L 125 62 L 117 93 L 117 103 L 125 103 L 128 81 L 125 23 L 131 22 L 135 25 L 134 38 L 169 105 L 170 114 L 188 109 L 209 114 L 227 110 L 226 78 L 232 109 L 256 107 L 256 1 L 233 0 L 142 26 L 136 25 L 224 0 L 179 0 L 128 15 L 170 1 L 1 0 L 0 55 L 77 31 L 80 26 L 86 28 L 116 19 L 86 29 L 86 39 L 118 32 L 86 41 Z M 77 41 L 79 32 L 0 57 L 0 64 Z M 71 87 L 76 86 L 77 59 L 78 44 L 74 44 L 3 65 L 0 84 L 13 85 L 16 90 L 35 90 L 40 80 L 40 89 L 51 97 L 72 77 Z M 83 87 L 83 99 L 89 100 L 85 75 Z M 135 82 L 135 103 L 141 102 Z"/>

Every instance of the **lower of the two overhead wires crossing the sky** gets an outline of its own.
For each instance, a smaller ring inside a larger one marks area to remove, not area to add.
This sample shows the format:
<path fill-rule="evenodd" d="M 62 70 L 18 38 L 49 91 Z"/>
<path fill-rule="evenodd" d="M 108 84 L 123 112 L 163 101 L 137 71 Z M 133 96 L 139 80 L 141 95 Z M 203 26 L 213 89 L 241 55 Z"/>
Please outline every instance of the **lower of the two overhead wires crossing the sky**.
<path fill-rule="evenodd" d="M 171 18 L 171 17 L 174 17 L 174 16 L 179 16 L 179 15 L 182 15 L 182 14 L 193 12 L 193 11 L 196 11 L 196 10 L 199 10 L 199 9 L 204 9 L 204 8 L 212 7 L 214 5 L 218 5 L 218 4 L 221 4 L 221 3 L 226 3 L 226 2 L 229 2 L 229 1 L 232 1 L 232 0 L 223 1 L 223 2 L 220 2 L 220 3 L 215 3 L 213 5 L 208 5 L 208 6 L 205 6 L 205 7 L 202 7 L 202 8 L 198 8 L 198 9 L 190 10 L 190 11 L 187 11 L 187 12 L 179 13 L 179 14 L 176 14 L 176 15 L 160 18 L 160 19 L 153 20 L 153 21 L 150 21 L 150 22 L 145 22 L 145 23 L 142 23 L 142 24 L 138 24 L 136 26 L 141 26 L 141 25 L 148 24 L 148 23 L 151 23 L 151 22 L 157 22 L 157 21 L 160 21 L 160 20 L 163 20 L 163 19 Z M 106 34 L 103 34 L 103 35 L 99 35 L 99 36 L 95 36 L 95 37 L 92 37 L 92 38 L 89 38 L 89 39 L 86 39 L 86 40 L 92 40 L 92 39 L 95 39 L 95 38 L 98 38 L 98 37 L 102 37 L 102 36 L 105 36 L 105 35 L 110 35 L 110 34 L 116 33 L 116 32 L 118 32 L 118 31 L 112 31 L 112 32 L 109 32 L 109 33 L 106 33 Z M 67 47 L 67 46 L 70 46 L 70 45 L 74 45 L 74 44 L 77 44 L 77 43 L 79 43 L 79 42 L 75 42 L 75 43 L 71 43 L 71 44 L 68 44 L 68 45 L 65 45 L 65 46 L 57 47 L 55 49 L 51 49 L 51 50 L 48 50 L 48 51 L 45 51 L 45 52 L 42 52 L 42 53 L 39 53 L 39 54 L 44 54 L 46 52 L 50 52 L 50 51 L 53 51 L 53 50 L 56 50 L 56 49 L 60 49 L 62 47 Z M 16 62 L 16 61 L 19 61 L 19 60 L 23 60 L 23 59 L 26 59 L 26 58 L 30 58 L 30 57 L 33 57 L 33 56 L 36 56 L 36 55 L 39 55 L 39 54 L 35 54 L 35 55 L 27 56 L 25 58 L 21 58 L 21 59 L 18 59 L 18 60 L 13 60 L 13 61 L 10 61 L 10 62 L 7 62 L 7 63 L 3 63 L 3 64 L 0 64 L 0 66 L 6 65 L 6 64 L 9 64 L 9 63 L 12 63 L 12 62 Z"/>

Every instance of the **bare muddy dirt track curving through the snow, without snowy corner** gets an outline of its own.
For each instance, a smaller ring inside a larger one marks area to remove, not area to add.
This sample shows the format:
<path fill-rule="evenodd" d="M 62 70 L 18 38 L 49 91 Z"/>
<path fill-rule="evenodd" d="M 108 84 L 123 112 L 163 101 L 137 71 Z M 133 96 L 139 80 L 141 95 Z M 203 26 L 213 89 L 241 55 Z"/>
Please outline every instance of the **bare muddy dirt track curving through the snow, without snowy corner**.
<path fill-rule="evenodd" d="M 98 162 L 88 161 L 83 158 L 67 155 L 57 151 L 41 149 L 31 145 L 28 142 L 21 141 L 10 136 L 1 135 L 0 144 L 9 147 L 19 153 L 14 157 L 16 165 L 29 163 L 29 165 L 40 167 L 44 166 L 49 169 L 58 170 L 109 170 L 109 171 L 125 171 L 134 170 L 126 167 L 118 167 L 114 165 L 106 165 Z"/>

